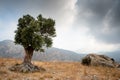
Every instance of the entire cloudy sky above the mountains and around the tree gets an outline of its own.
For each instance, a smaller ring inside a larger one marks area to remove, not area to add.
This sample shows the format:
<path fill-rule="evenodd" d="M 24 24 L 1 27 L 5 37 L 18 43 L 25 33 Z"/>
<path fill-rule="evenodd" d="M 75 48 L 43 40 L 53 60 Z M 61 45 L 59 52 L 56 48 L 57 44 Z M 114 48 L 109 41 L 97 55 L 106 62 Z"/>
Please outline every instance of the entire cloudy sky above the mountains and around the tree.
<path fill-rule="evenodd" d="M 14 40 L 18 19 L 53 18 L 53 47 L 79 53 L 120 50 L 120 0 L 0 0 L 0 41 Z"/>

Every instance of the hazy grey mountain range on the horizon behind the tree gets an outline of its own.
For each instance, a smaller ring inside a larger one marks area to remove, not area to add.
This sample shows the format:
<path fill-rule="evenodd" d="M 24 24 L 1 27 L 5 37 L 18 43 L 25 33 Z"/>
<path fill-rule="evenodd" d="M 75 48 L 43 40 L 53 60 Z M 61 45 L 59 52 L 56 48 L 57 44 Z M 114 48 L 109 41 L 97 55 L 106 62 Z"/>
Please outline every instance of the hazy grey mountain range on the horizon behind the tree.
<path fill-rule="evenodd" d="M 48 48 L 44 53 L 34 52 L 33 60 L 40 61 L 81 61 L 85 54 L 77 54 L 72 51 Z M 15 45 L 12 40 L 0 42 L 0 57 L 6 58 L 24 58 L 24 49 L 20 45 Z"/>

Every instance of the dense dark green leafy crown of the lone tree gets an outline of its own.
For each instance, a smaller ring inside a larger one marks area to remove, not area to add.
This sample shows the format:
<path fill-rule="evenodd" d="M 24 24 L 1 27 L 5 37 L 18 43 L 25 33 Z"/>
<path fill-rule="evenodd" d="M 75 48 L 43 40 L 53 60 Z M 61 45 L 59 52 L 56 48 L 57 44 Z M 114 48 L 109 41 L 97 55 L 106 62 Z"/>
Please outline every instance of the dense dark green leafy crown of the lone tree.
<path fill-rule="evenodd" d="M 32 47 L 35 51 L 44 51 L 43 47 L 52 46 L 52 37 L 56 36 L 55 21 L 39 15 L 37 19 L 24 15 L 18 20 L 15 31 L 15 43 L 24 48 Z"/>

